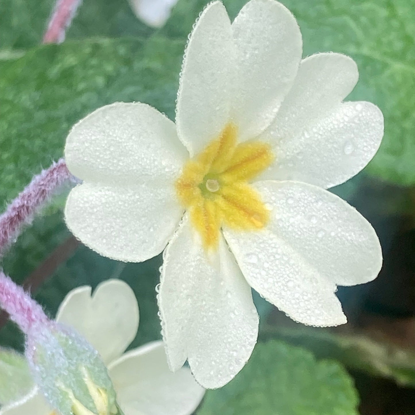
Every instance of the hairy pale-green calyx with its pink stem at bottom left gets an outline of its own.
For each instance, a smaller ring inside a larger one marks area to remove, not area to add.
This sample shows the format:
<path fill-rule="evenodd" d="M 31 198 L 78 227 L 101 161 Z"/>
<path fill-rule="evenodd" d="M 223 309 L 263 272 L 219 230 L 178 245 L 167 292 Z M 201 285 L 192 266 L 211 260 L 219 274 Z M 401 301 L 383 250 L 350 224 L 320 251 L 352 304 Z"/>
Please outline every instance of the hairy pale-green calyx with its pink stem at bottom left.
<path fill-rule="evenodd" d="M 25 355 L 34 383 L 61 415 L 124 415 L 98 352 L 71 327 L 50 320 L 2 272 L 0 307 L 25 334 Z"/>

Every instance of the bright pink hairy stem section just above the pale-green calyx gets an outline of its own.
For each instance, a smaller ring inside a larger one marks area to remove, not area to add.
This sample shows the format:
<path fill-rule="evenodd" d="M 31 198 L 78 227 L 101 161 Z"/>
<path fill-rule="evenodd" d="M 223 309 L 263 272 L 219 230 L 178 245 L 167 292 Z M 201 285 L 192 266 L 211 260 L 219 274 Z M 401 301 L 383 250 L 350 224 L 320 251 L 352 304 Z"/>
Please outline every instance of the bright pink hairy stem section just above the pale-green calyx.
<path fill-rule="evenodd" d="M 41 306 L 24 289 L 15 284 L 10 277 L 0 271 L 0 307 L 3 308 L 27 334 L 34 323 L 49 322 Z"/>

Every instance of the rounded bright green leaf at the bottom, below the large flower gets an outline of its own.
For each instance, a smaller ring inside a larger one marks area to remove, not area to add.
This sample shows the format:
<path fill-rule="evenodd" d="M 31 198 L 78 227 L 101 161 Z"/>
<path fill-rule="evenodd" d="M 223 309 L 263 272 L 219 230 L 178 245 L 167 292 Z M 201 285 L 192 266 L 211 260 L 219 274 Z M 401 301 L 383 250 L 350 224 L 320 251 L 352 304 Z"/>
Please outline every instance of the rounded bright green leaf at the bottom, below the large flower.
<path fill-rule="evenodd" d="M 198 415 L 357 415 L 358 403 L 339 363 L 274 340 L 257 344 L 234 380 L 207 391 Z"/>

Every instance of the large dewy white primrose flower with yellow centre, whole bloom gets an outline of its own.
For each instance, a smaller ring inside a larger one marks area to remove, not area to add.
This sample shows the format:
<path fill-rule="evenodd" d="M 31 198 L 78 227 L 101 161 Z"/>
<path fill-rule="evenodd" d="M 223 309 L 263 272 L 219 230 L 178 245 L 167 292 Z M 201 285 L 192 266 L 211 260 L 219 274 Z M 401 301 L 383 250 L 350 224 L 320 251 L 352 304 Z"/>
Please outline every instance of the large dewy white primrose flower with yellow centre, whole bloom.
<path fill-rule="evenodd" d="M 171 369 L 188 359 L 216 388 L 251 355 L 251 287 L 298 322 L 346 322 L 337 285 L 382 264 L 371 225 L 327 188 L 376 153 L 383 117 L 342 102 L 358 79 L 342 54 L 301 59 L 291 12 L 252 0 L 233 23 L 210 3 L 186 48 L 176 125 L 142 103 L 102 107 L 73 127 L 66 162 L 83 183 L 66 203 L 95 251 L 145 261 L 164 251 L 159 308 Z"/>

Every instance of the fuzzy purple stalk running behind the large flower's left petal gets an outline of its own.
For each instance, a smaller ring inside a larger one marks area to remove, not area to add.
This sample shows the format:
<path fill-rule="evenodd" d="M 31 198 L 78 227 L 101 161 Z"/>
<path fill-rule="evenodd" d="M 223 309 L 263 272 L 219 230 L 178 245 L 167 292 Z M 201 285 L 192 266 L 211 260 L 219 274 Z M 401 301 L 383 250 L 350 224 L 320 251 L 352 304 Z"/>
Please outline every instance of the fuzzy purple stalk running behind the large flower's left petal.
<path fill-rule="evenodd" d="M 30 225 L 34 215 L 65 184 L 76 183 L 65 161 L 60 159 L 34 176 L 32 182 L 17 196 L 0 216 L 0 254 L 18 237 L 24 225 Z"/>

